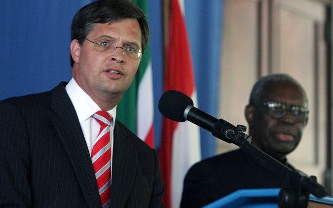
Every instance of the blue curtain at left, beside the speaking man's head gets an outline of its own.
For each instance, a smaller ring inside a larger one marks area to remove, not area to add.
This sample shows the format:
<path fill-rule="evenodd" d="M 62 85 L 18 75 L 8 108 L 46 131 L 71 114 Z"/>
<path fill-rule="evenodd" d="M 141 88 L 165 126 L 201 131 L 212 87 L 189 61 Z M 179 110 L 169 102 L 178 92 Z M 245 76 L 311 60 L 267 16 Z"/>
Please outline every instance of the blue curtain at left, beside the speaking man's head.
<path fill-rule="evenodd" d="M 70 80 L 71 21 L 88 2 L 1 2 L 0 100 L 50 90 Z"/>

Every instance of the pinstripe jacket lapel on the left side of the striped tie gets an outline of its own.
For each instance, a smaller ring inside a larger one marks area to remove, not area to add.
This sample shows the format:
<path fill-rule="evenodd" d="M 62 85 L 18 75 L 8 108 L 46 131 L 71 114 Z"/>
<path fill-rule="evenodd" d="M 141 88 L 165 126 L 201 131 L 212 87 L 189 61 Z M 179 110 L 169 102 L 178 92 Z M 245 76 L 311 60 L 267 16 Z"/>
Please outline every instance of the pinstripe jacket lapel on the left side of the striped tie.
<path fill-rule="evenodd" d="M 85 200 L 91 208 L 100 207 L 95 173 L 87 144 L 74 106 L 64 88 L 65 85 L 66 83 L 60 83 L 52 90 L 51 108 L 57 114 L 51 120 L 73 165 Z"/>

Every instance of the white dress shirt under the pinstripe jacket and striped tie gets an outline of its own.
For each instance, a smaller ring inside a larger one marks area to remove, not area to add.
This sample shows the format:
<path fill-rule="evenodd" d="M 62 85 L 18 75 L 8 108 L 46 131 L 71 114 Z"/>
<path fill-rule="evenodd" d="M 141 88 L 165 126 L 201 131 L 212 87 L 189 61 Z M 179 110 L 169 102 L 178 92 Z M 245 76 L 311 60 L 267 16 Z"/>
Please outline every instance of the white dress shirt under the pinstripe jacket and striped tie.
<path fill-rule="evenodd" d="M 65 89 L 74 105 L 78 121 L 80 122 L 84 139 L 87 142 L 89 154 L 91 157 L 91 151 L 96 142 L 96 138 L 101 127 L 96 119 L 92 117 L 92 115 L 101 110 L 101 108 L 88 96 L 87 93 L 85 93 L 78 86 L 74 78 L 72 78 L 71 81 L 66 85 Z M 113 150 L 113 128 L 116 115 L 116 106 L 107 112 L 111 115 L 111 118 L 113 118 L 110 128 L 110 143 L 111 150 Z M 113 151 L 111 151 L 111 170 L 112 154 Z"/>

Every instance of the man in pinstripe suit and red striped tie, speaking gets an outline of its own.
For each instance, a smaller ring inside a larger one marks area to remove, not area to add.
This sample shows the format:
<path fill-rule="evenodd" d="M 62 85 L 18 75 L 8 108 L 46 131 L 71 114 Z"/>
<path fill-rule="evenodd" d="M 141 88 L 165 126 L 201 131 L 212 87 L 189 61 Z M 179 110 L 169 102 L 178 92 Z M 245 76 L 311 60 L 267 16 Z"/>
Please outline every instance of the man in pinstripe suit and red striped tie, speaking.
<path fill-rule="evenodd" d="M 116 119 L 149 37 L 128 0 L 99 0 L 72 22 L 73 78 L 0 102 L 0 207 L 160 207 L 153 149 Z"/>

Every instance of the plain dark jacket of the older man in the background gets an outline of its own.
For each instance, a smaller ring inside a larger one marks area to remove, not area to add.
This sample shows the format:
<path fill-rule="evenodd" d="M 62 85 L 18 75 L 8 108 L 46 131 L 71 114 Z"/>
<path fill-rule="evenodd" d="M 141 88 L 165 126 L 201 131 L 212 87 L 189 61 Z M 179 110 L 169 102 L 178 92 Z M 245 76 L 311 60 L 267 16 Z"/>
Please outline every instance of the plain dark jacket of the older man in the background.
<path fill-rule="evenodd" d="M 287 161 L 284 165 L 294 169 Z M 184 180 L 181 207 L 201 208 L 239 189 L 283 188 L 288 178 L 272 165 L 242 149 L 193 165 Z"/>

